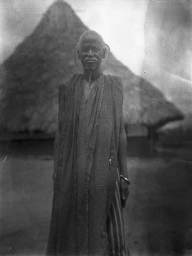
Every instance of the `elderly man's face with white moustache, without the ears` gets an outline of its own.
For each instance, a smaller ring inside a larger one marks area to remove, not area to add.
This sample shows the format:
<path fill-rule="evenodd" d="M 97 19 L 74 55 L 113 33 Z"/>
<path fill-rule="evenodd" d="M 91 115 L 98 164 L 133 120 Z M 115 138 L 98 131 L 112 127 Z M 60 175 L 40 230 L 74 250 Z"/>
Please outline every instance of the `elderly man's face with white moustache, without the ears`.
<path fill-rule="evenodd" d="M 84 68 L 95 70 L 101 65 L 102 58 L 105 57 L 105 50 L 99 41 L 87 39 L 81 43 L 78 54 Z"/>

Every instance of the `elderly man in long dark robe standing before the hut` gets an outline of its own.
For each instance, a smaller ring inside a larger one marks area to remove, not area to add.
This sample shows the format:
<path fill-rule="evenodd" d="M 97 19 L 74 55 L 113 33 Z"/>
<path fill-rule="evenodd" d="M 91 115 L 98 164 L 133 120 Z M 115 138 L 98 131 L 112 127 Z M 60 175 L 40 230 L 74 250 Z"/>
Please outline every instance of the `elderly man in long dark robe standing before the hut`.
<path fill-rule="evenodd" d="M 83 33 L 77 44 L 83 74 L 59 88 L 48 255 L 128 254 L 123 88 L 119 77 L 101 73 L 106 49 L 97 32 Z"/>

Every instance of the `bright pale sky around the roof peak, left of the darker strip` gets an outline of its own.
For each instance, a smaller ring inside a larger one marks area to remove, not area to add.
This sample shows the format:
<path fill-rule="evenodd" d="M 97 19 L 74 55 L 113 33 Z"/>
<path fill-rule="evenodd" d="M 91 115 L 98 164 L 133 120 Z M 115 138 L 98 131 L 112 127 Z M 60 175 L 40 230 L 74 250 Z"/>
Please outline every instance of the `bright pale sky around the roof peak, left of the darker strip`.
<path fill-rule="evenodd" d="M 54 0 L 0 0 L 0 63 L 30 35 Z M 83 23 L 99 32 L 115 56 L 141 74 L 149 0 L 66 0 Z"/>

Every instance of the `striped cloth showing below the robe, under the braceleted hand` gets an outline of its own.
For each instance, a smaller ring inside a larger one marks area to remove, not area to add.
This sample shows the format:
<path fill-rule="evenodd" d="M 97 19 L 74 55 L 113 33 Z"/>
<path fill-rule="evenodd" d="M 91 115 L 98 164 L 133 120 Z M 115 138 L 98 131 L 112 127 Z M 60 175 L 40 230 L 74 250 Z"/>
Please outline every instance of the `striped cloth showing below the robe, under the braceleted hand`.
<path fill-rule="evenodd" d="M 118 169 L 117 172 L 119 177 Z M 115 197 L 107 218 L 107 234 L 109 239 L 109 256 L 129 256 L 129 251 L 125 244 L 119 178 L 116 180 Z"/>

